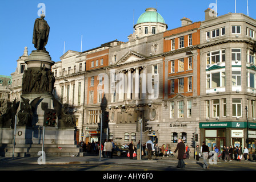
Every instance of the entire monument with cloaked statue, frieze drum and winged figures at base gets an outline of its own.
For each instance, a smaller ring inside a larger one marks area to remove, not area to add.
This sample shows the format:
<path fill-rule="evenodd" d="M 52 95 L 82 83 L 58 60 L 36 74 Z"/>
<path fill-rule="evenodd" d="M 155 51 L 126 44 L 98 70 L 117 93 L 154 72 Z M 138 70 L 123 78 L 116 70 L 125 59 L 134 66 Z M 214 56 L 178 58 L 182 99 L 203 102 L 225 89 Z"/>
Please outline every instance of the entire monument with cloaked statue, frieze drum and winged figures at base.
<path fill-rule="evenodd" d="M 25 60 L 27 69 L 22 77 L 21 101 L 18 104 L 13 102 L 6 121 L 1 118 L 0 134 L 13 133 L 14 115 L 17 113 L 17 138 L 14 140 L 20 150 L 33 151 L 37 154 L 41 150 L 38 146 L 45 143 L 48 146 L 46 151 L 54 151 L 55 155 L 63 155 L 58 146 L 65 147 L 67 155 L 79 155 L 80 150 L 75 141 L 74 115 L 67 112 L 67 105 L 62 105 L 53 96 L 55 77 L 51 72 L 51 66 L 54 65 L 54 61 L 45 49 L 50 27 L 44 18 L 45 15 L 41 14 L 41 18 L 35 20 L 33 44 L 36 50 Z M 19 105 L 18 109 L 16 105 Z M 1 140 L 3 141 L 9 143 L 10 137 Z M 11 148 L 7 150 L 12 152 Z M 19 154 L 15 154 L 17 155 Z M 6 156 L 10 156 L 10 153 Z"/>

